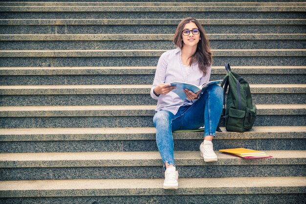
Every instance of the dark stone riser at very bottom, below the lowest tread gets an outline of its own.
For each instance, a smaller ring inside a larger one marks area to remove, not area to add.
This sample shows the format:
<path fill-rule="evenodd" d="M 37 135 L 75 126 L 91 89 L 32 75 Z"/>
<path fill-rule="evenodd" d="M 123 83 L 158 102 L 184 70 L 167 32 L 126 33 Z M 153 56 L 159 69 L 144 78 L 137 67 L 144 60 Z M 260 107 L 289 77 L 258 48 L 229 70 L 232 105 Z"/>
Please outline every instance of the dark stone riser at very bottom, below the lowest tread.
<path fill-rule="evenodd" d="M 84 0 L 83 0 L 84 1 Z M 162 185 L 162 183 L 161 183 Z M 167 196 L 82 196 L 82 197 L 23 197 L 1 198 L 5 204 L 209 204 L 277 203 L 304 204 L 305 194 L 215 194 L 215 195 L 167 195 Z"/>

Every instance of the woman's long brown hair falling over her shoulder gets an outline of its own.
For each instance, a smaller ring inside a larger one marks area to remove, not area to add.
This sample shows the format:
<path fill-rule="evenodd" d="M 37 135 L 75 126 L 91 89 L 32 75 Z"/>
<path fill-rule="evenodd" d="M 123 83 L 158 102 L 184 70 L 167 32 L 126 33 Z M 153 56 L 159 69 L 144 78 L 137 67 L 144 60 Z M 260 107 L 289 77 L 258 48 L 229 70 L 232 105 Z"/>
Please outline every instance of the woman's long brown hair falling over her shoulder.
<path fill-rule="evenodd" d="M 197 28 L 200 30 L 201 40 L 197 43 L 196 53 L 190 57 L 191 59 L 189 65 L 191 66 L 192 64 L 198 64 L 199 70 L 201 70 L 203 75 L 205 75 L 207 73 L 207 68 L 211 66 L 213 63 L 213 57 L 208 37 L 201 23 L 199 23 L 196 19 L 192 17 L 187 17 L 186 19 L 183 19 L 177 25 L 173 42 L 177 47 L 179 48 L 183 47 L 184 43 L 182 38 L 182 31 L 184 29 L 185 24 L 190 22 L 193 22 L 197 25 Z"/>

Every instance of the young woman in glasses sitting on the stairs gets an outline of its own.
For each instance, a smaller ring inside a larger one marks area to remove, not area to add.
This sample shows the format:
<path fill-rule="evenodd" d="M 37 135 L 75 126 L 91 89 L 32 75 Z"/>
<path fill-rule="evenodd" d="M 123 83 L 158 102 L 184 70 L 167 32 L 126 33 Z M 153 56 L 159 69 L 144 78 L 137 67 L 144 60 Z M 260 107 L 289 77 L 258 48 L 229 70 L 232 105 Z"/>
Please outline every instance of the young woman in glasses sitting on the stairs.
<path fill-rule="evenodd" d="M 200 155 L 204 161 L 217 161 L 212 139 L 222 111 L 223 90 L 218 85 L 209 86 L 204 92 L 185 90 L 187 99 L 172 90 L 170 83 L 187 82 L 199 86 L 209 81 L 212 53 L 204 28 L 194 18 L 182 20 L 175 31 L 176 49 L 169 50 L 159 58 L 151 96 L 158 100 L 153 123 L 156 128 L 156 143 L 163 160 L 165 189 L 177 189 L 178 172 L 175 169 L 172 131 L 197 129 L 205 126 L 204 141 Z"/>

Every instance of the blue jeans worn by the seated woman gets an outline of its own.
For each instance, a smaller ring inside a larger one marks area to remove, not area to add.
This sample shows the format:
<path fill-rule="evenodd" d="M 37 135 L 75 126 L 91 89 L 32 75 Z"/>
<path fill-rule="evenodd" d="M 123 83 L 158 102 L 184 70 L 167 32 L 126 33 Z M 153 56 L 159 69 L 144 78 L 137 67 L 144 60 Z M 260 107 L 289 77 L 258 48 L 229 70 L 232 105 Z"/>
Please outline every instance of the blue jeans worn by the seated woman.
<path fill-rule="evenodd" d="M 211 85 L 195 103 L 181 106 L 175 115 L 165 110 L 154 114 L 156 143 L 164 168 L 165 162 L 175 166 L 172 131 L 197 129 L 204 125 L 204 137 L 216 136 L 222 106 L 223 89 L 218 85 Z"/>

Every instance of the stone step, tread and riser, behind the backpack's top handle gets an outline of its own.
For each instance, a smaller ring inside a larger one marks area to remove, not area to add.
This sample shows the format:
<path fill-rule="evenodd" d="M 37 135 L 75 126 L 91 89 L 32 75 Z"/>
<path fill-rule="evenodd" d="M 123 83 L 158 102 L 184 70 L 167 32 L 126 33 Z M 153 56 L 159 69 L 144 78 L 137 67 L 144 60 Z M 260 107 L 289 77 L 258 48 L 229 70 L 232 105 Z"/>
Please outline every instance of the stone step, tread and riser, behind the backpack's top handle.
<path fill-rule="evenodd" d="M 156 67 L 13 67 L 0 68 L 1 86 L 152 84 Z M 306 84 L 304 66 L 233 66 L 250 84 Z M 222 66 L 213 66 L 211 80 L 223 79 Z"/>

